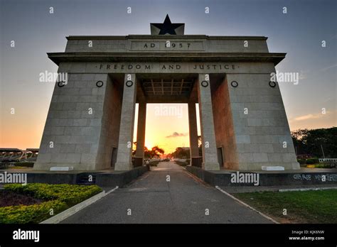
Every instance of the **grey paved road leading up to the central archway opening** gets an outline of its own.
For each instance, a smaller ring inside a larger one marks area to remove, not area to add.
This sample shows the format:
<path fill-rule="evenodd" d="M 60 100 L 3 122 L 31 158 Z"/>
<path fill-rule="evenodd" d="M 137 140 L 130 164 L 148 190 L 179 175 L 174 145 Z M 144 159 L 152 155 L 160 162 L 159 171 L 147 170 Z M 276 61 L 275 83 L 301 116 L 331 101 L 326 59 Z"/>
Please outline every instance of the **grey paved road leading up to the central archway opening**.
<path fill-rule="evenodd" d="M 166 182 L 166 176 L 170 182 Z M 128 209 L 131 214 L 128 215 Z M 205 215 L 206 210 L 209 215 Z M 62 223 L 272 223 L 171 162 Z"/>

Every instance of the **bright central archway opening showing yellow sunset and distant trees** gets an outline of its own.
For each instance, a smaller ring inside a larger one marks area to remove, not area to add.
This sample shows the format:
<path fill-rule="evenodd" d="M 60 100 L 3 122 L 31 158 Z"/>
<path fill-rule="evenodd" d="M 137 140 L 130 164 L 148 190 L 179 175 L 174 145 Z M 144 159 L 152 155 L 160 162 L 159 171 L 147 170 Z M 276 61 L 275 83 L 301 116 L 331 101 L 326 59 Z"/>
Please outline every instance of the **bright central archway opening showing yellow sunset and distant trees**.
<path fill-rule="evenodd" d="M 146 126 L 144 138 L 144 163 L 156 165 L 161 161 L 172 161 L 179 165 L 191 164 L 191 139 L 190 124 L 196 126 L 195 137 L 200 136 L 200 121 L 198 104 L 194 104 L 194 115 L 196 119 L 191 123 L 188 115 L 188 104 L 146 104 Z M 136 104 L 134 118 L 134 146 L 133 160 L 137 166 L 137 141 L 141 140 L 138 136 L 139 131 L 139 104 Z M 191 111 L 191 109 L 190 109 Z M 144 112 L 144 111 L 143 111 Z M 200 143 L 197 143 L 198 150 Z M 201 153 L 198 155 L 201 156 Z"/>

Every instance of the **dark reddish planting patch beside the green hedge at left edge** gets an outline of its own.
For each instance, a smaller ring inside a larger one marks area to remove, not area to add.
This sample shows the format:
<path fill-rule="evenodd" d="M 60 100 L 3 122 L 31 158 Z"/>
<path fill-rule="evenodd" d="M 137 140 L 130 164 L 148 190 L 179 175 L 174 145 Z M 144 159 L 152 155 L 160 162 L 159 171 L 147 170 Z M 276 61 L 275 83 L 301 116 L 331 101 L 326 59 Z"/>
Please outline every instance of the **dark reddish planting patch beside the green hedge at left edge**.
<path fill-rule="evenodd" d="M 0 190 L 0 207 L 40 204 L 41 202 L 44 201 L 11 191 Z"/>

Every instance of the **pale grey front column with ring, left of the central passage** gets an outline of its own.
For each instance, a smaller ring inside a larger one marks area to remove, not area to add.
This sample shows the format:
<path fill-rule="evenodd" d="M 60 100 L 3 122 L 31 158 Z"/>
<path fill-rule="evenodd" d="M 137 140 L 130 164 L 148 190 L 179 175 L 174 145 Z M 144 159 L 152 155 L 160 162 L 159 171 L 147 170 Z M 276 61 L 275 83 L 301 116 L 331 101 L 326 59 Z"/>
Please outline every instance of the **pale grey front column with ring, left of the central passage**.
<path fill-rule="evenodd" d="M 114 165 L 114 170 L 132 170 L 132 144 L 136 92 L 136 75 L 125 74 L 117 161 Z"/>

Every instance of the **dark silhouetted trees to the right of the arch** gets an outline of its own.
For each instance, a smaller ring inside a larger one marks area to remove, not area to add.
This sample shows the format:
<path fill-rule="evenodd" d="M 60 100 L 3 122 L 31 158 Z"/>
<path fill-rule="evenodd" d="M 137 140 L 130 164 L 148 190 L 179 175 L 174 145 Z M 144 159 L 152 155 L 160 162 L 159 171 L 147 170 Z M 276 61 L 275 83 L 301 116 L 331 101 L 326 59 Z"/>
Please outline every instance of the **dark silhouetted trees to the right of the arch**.
<path fill-rule="evenodd" d="M 291 131 L 297 155 L 337 158 L 337 127 Z"/>

